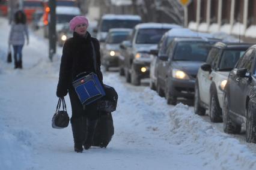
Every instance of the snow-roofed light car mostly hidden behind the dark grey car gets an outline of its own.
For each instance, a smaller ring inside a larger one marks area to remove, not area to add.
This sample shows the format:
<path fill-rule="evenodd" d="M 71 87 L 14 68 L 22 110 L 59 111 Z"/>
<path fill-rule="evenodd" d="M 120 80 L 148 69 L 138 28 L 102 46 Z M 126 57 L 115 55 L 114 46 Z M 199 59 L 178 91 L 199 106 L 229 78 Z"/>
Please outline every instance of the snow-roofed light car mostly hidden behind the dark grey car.
<path fill-rule="evenodd" d="M 150 53 L 154 56 L 153 60 L 150 63 L 150 89 L 156 90 L 157 87 L 157 67 L 161 65 L 160 63 L 165 62 L 160 60 L 159 57 L 162 54 L 166 55 L 167 48 L 171 44 L 174 38 L 181 37 L 206 37 L 213 38 L 210 34 L 202 34 L 200 32 L 194 32 L 187 28 L 174 28 L 166 32 L 161 38 L 159 44 L 157 45 L 157 50 L 152 50 Z"/>

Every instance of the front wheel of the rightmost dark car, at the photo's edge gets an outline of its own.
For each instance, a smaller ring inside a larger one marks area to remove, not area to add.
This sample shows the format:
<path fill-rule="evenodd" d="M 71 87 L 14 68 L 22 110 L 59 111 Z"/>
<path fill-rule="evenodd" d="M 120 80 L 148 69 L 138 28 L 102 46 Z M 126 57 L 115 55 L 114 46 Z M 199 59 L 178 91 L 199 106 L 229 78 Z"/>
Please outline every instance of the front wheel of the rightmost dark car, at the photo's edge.
<path fill-rule="evenodd" d="M 256 116 L 254 104 L 250 100 L 246 110 L 246 141 L 256 143 Z"/>

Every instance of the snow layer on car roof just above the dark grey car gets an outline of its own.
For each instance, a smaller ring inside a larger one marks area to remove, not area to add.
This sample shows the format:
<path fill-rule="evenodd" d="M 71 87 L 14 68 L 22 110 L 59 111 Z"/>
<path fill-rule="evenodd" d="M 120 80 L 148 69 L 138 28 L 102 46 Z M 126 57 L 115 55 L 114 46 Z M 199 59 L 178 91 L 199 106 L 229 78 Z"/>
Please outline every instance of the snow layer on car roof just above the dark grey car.
<path fill-rule="evenodd" d="M 195 32 L 188 28 L 174 28 L 165 33 L 168 37 L 206 37 L 213 38 L 213 35 Z"/>

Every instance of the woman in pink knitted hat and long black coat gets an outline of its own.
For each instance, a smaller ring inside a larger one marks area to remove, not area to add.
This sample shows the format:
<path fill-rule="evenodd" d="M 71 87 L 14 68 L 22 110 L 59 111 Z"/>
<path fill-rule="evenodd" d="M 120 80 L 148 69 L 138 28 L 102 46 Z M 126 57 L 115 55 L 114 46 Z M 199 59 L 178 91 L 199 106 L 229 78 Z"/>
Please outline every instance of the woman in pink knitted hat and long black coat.
<path fill-rule="evenodd" d="M 96 38 L 87 32 L 88 20 L 84 16 L 76 16 L 70 20 L 70 30 L 73 37 L 69 38 L 63 47 L 61 66 L 59 70 L 59 82 L 56 91 L 58 97 L 64 97 L 69 92 L 72 105 L 72 117 L 70 119 L 75 142 L 75 151 L 82 152 L 91 147 L 93 135 L 99 118 L 96 102 L 83 107 L 72 86 L 72 81 L 81 72 L 95 72 L 102 82 L 100 71 L 100 44 Z M 91 42 L 93 42 L 94 48 Z M 94 69 L 93 49 L 96 53 L 96 68 Z M 103 84 L 103 83 L 102 83 Z"/>

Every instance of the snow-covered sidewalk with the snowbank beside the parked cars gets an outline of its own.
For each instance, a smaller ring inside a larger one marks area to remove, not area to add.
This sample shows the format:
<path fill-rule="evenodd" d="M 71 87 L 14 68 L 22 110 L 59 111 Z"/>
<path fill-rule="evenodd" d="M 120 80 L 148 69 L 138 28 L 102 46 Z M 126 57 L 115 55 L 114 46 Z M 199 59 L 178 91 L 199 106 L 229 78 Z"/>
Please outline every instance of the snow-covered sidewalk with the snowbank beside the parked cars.
<path fill-rule="evenodd" d="M 9 29 L 0 18 L 0 169 L 256 169 L 246 144 L 117 72 L 103 73 L 119 95 L 111 143 L 75 153 L 71 127 L 51 128 L 59 57 L 49 62 L 47 41 L 31 33 L 24 69 L 14 70 L 5 63 Z"/>

